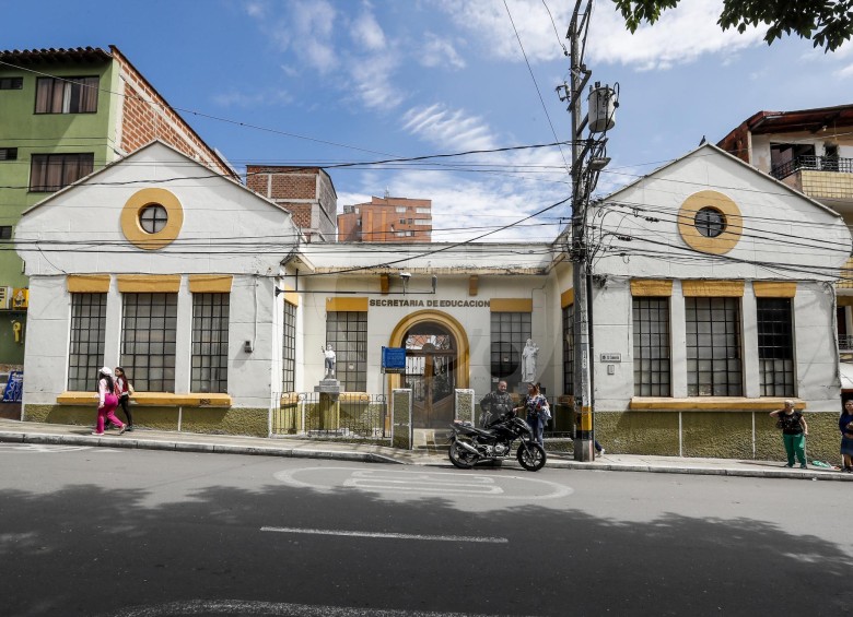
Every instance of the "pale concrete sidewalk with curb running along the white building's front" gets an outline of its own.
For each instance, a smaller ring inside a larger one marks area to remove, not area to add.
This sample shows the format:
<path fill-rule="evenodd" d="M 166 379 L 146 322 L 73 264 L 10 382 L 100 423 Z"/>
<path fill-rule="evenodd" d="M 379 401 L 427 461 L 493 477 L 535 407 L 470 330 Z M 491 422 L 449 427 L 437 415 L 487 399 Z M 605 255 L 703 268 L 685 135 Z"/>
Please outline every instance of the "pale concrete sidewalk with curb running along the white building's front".
<path fill-rule="evenodd" d="M 0 442 L 47 443 L 62 446 L 89 446 L 106 448 L 138 448 L 141 450 L 174 450 L 176 452 L 207 452 L 213 454 L 255 454 L 290 456 L 297 459 L 329 459 L 366 463 L 404 465 L 449 466 L 444 450 L 397 450 L 367 443 L 342 443 L 297 437 L 260 438 L 227 435 L 201 435 L 165 430 L 137 429 L 121 436 L 107 431 L 104 437 L 90 435 L 91 427 L 59 424 L 39 424 L 0 418 Z M 780 446 L 781 449 L 781 446 Z M 781 454 L 781 452 L 780 452 Z M 514 460 L 504 463 L 507 468 L 517 467 Z M 694 475 L 725 475 L 743 477 L 798 478 L 853 482 L 853 474 L 832 468 L 807 470 L 785 467 L 780 461 L 749 461 L 736 459 L 685 459 L 680 456 L 652 456 L 642 454 L 610 454 L 594 462 L 574 461 L 571 454 L 549 452 L 550 468 L 646 472 Z"/>

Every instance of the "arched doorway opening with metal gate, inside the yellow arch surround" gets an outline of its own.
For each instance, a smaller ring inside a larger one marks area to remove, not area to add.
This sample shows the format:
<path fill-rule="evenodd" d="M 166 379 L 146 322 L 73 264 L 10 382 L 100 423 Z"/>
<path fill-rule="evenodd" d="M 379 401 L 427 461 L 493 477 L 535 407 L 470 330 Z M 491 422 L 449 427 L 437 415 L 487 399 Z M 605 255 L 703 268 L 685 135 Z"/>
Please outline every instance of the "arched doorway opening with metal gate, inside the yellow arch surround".
<path fill-rule="evenodd" d="M 456 339 L 444 325 L 422 321 L 404 335 L 404 388 L 412 391 L 414 428 L 445 428 L 453 422 L 456 389 Z"/>

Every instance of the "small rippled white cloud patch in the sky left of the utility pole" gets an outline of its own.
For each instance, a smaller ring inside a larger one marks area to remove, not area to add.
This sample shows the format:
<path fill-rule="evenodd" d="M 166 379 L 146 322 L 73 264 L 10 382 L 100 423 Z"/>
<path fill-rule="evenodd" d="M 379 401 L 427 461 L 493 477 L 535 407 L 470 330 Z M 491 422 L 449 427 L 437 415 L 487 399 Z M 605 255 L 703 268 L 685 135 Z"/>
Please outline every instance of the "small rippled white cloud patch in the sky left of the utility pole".
<path fill-rule="evenodd" d="M 478 116 L 441 104 L 412 107 L 402 117 L 402 128 L 445 150 L 487 150 L 494 147 L 489 126 Z"/>

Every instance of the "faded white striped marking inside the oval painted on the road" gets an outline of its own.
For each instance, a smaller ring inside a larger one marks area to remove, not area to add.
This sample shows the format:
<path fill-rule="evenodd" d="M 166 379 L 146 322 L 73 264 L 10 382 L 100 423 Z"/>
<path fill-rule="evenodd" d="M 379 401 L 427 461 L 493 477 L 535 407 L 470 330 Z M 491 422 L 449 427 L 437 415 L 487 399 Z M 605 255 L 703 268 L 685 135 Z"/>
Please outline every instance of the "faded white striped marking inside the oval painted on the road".
<path fill-rule="evenodd" d="M 441 473 L 355 472 L 343 482 L 343 486 L 364 490 L 405 490 L 441 495 L 503 494 L 503 489 L 495 485 L 491 477 L 466 476 L 460 480 L 456 474 Z"/>

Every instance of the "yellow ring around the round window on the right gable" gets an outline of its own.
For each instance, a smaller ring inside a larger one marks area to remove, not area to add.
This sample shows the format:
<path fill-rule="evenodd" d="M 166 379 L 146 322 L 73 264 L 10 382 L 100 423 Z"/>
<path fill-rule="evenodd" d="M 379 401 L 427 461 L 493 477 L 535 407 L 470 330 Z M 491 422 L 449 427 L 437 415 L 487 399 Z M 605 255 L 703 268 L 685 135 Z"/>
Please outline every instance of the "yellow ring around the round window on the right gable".
<path fill-rule="evenodd" d="M 714 237 L 704 236 L 696 224 L 696 217 L 704 209 L 722 214 L 725 227 Z M 687 198 L 678 211 L 678 233 L 692 249 L 711 254 L 725 254 L 735 248 L 744 233 L 740 209 L 727 195 L 717 191 L 699 191 Z"/>

